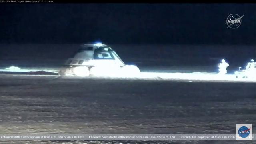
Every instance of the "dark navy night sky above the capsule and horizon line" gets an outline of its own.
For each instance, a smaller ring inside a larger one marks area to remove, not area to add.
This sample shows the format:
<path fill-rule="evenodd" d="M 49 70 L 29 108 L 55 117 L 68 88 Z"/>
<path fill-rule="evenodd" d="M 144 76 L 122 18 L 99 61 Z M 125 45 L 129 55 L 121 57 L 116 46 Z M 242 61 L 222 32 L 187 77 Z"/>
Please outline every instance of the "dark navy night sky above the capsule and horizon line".
<path fill-rule="evenodd" d="M 0 19 L 0 43 L 256 44 L 256 4 L 0 4 Z"/>

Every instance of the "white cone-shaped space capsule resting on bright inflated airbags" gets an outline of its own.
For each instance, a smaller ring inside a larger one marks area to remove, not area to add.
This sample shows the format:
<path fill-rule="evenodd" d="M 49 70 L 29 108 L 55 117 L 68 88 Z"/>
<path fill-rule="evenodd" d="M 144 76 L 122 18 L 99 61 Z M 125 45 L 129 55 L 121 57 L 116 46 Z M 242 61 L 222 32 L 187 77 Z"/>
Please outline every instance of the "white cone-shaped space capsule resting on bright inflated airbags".
<path fill-rule="evenodd" d="M 81 45 L 59 71 L 60 75 L 71 76 L 134 76 L 139 73 L 137 66 L 124 64 L 112 48 L 102 43 Z"/>

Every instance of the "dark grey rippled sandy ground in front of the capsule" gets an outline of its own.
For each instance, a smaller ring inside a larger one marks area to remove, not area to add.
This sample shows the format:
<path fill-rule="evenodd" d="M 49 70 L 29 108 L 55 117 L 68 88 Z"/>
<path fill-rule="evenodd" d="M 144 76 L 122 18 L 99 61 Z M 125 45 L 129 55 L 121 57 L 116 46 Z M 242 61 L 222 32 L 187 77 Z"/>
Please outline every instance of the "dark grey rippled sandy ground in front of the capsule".
<path fill-rule="evenodd" d="M 0 74 L 2 134 L 235 134 L 256 122 L 256 83 Z M 24 141 L 12 143 L 206 143 Z M 255 141 L 210 141 L 255 143 Z M 10 142 L 4 142 L 10 143 Z"/>

